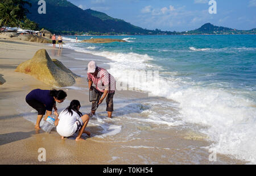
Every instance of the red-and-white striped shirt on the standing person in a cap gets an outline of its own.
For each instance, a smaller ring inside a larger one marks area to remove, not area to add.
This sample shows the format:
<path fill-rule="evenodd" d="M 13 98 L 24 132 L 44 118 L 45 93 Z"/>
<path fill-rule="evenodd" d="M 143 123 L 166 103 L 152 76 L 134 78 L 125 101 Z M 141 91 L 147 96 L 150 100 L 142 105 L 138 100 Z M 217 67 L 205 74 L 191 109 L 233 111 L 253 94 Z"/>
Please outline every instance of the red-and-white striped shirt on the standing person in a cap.
<path fill-rule="evenodd" d="M 107 70 L 102 68 L 97 67 L 96 72 L 98 72 L 96 77 L 93 74 L 87 73 L 88 81 L 92 81 L 96 85 L 96 89 L 102 93 L 105 90 L 108 90 L 109 94 L 114 93 L 115 78 Z"/>

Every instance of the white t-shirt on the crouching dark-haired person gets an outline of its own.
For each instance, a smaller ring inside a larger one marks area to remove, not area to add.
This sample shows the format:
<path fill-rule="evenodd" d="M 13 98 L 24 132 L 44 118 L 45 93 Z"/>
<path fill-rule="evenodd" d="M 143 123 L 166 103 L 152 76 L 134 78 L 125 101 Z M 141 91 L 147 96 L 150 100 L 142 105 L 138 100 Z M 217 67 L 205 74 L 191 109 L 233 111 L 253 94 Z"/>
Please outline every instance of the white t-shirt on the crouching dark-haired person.
<path fill-rule="evenodd" d="M 72 136 L 77 130 L 76 121 L 79 120 L 80 116 L 75 111 L 73 115 L 68 112 L 68 110 L 63 110 L 60 112 L 58 117 L 59 123 L 56 127 L 57 132 L 60 136 L 69 137 Z"/>

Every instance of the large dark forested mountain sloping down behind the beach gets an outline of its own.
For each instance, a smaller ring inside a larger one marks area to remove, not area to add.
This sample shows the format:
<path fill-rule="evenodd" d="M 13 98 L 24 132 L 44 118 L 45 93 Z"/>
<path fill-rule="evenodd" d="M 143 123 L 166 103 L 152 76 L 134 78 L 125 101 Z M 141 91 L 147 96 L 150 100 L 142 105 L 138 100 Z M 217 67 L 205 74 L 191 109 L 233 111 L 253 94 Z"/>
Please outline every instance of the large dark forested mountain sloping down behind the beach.
<path fill-rule="evenodd" d="M 102 12 L 91 9 L 82 10 L 66 0 L 47 0 L 46 14 L 38 13 L 38 0 L 27 0 L 30 14 L 27 18 L 40 27 L 52 31 L 98 32 L 110 34 L 147 34 L 150 30 L 134 26 L 121 19 L 112 18 Z"/>

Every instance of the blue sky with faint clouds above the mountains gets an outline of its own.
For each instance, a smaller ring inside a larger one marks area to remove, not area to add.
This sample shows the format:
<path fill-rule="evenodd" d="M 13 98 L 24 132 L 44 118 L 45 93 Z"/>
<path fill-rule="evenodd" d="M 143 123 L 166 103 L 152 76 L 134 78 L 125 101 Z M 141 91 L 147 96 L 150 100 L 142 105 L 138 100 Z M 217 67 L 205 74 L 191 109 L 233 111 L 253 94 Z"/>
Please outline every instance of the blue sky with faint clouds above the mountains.
<path fill-rule="evenodd" d="M 149 30 L 195 30 L 205 23 L 250 30 L 256 28 L 256 0 L 215 0 L 217 14 L 210 14 L 210 0 L 68 0 L 81 9 L 104 12 Z"/>

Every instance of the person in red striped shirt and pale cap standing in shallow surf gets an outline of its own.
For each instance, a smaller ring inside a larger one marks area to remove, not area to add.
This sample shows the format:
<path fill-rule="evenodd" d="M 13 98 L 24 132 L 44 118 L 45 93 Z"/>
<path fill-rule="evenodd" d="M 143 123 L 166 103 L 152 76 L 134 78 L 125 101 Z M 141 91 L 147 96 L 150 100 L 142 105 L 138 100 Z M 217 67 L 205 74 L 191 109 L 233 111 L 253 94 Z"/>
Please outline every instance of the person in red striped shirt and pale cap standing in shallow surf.
<path fill-rule="evenodd" d="M 94 83 L 98 95 L 100 95 L 97 102 L 92 102 L 92 114 L 95 114 L 97 106 L 106 98 L 106 111 L 108 111 L 108 117 L 112 118 L 112 112 L 114 111 L 115 78 L 107 70 L 99 68 L 95 61 L 90 61 L 88 64 L 87 79 L 89 89 L 92 90 L 91 87 Z"/>

